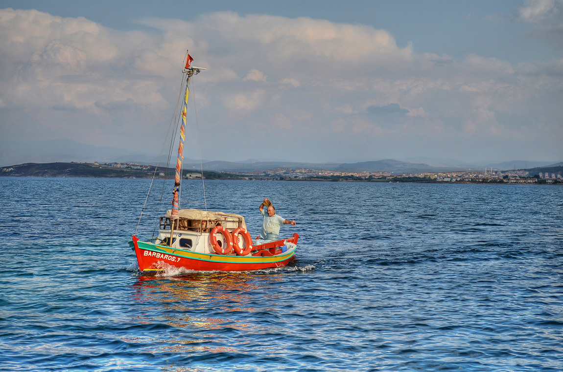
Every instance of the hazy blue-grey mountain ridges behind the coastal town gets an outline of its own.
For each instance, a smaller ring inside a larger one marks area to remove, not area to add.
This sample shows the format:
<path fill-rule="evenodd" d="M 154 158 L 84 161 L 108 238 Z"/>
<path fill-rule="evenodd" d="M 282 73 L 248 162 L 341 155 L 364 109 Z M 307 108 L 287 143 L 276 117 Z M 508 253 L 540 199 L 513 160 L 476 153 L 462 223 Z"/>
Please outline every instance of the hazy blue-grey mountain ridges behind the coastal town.
<path fill-rule="evenodd" d="M 150 155 L 129 151 L 115 147 L 96 147 L 78 143 L 70 139 L 28 141 L 28 142 L 0 142 L 0 166 L 11 166 L 24 163 L 49 162 L 127 162 L 144 165 L 157 165 L 158 155 Z M 430 163 L 430 164 L 428 164 Z M 483 169 L 485 166 L 498 170 L 528 169 L 553 165 L 546 161 L 510 161 L 491 163 L 487 165 L 471 165 L 456 160 L 439 158 L 409 158 L 400 160 L 383 159 L 377 161 L 363 161 L 355 163 L 310 163 L 283 160 L 247 160 L 247 161 L 199 161 L 184 159 L 184 169 L 225 171 L 225 172 L 253 172 L 276 168 L 306 168 L 325 169 L 335 171 L 385 171 L 390 173 L 423 173 L 438 171 L 462 171 L 468 169 Z M 160 165 L 166 165 L 166 158 L 160 158 Z"/>

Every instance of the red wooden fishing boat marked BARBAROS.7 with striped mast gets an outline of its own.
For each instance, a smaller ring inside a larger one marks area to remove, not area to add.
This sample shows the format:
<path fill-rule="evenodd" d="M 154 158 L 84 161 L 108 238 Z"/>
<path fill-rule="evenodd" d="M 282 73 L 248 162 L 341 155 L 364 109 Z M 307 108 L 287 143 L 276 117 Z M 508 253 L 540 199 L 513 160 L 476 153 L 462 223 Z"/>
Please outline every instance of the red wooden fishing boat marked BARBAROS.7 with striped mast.
<path fill-rule="evenodd" d="M 137 238 L 137 230 L 129 246 L 135 251 L 139 270 L 156 274 L 176 269 L 194 271 L 247 271 L 282 267 L 294 258 L 298 234 L 278 241 L 252 239 L 242 215 L 205 209 L 181 209 L 180 193 L 182 160 L 186 130 L 187 102 L 190 80 L 201 67 L 191 66 L 193 58 L 186 52 L 182 65 L 185 74 L 184 102 L 180 123 L 180 140 L 176 159 L 172 209 L 160 216 L 158 236 L 150 241 Z M 156 173 L 155 173 L 156 174 Z M 202 171 L 202 182 L 205 182 Z M 203 188 L 205 189 L 205 188 Z M 150 193 L 150 189 L 149 189 Z M 205 200 L 205 197 L 204 197 Z M 141 212 L 142 215 L 142 212 Z M 138 228 L 138 225 L 137 225 Z"/>

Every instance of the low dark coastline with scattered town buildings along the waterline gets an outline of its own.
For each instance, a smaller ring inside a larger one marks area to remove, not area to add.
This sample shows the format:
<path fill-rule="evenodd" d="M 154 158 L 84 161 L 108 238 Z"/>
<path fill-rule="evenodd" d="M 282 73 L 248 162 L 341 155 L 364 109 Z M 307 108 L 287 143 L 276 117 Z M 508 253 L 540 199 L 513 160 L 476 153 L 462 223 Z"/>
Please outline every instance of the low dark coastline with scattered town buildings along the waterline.
<path fill-rule="evenodd" d="M 46 163 L 20 164 L 0 169 L 0 176 L 95 177 L 95 178 L 167 178 L 175 169 L 140 165 L 135 162 L 111 163 Z M 503 183 L 503 184 L 563 184 L 563 167 L 544 169 L 498 170 L 491 168 L 422 173 L 390 171 L 339 171 L 303 167 L 240 171 L 184 170 L 185 179 L 239 179 L 332 182 L 427 182 L 427 183 Z"/>

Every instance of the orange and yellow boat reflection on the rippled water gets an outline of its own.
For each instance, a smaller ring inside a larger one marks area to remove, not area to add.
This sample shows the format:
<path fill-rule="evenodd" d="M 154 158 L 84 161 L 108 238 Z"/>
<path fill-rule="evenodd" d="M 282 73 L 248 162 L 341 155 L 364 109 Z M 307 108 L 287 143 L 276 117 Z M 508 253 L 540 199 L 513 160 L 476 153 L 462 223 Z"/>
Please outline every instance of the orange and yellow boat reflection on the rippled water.
<path fill-rule="evenodd" d="M 252 357 L 249 340 L 256 342 L 257 335 L 283 332 L 283 321 L 263 323 L 278 313 L 268 300 L 283 287 L 283 278 L 279 273 L 140 276 L 132 286 L 138 310 L 133 321 L 145 325 L 146 330 L 137 339 L 124 341 L 150 345 L 145 352 L 175 360 L 162 366 L 171 372 L 198 370 L 186 369 L 187 362 L 193 365 L 209 359 L 226 362 Z M 269 305 L 264 307 L 265 303 Z"/>

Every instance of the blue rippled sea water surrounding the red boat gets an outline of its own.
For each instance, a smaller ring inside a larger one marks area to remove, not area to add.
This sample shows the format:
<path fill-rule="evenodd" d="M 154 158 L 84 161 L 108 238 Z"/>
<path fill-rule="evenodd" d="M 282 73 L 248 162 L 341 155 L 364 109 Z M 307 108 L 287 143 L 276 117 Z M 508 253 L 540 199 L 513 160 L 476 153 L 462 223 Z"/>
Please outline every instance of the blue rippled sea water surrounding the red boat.
<path fill-rule="evenodd" d="M 264 197 L 295 219 L 297 260 L 151 278 L 148 185 L 0 178 L 0 370 L 563 370 L 561 187 L 209 181 L 253 235 Z"/>

